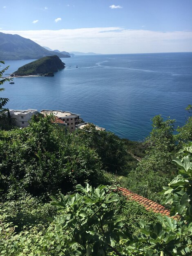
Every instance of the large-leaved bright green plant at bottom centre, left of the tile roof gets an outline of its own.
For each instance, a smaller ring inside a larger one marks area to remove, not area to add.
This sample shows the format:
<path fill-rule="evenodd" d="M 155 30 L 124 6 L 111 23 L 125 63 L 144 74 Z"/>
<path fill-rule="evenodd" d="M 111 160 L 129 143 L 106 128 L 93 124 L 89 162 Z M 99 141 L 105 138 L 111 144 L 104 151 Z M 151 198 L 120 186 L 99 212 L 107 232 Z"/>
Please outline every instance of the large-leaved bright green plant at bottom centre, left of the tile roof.
<path fill-rule="evenodd" d="M 107 251 L 115 252 L 116 243 L 124 236 L 122 223 L 116 222 L 115 210 L 108 205 L 118 201 L 118 196 L 106 186 L 96 189 L 86 184 L 76 186 L 79 193 L 70 196 L 61 195 L 60 200 L 51 197 L 62 215 L 65 233 L 71 239 L 65 244 L 65 255 L 107 255 Z M 76 249 L 75 249 L 76 248 Z"/>

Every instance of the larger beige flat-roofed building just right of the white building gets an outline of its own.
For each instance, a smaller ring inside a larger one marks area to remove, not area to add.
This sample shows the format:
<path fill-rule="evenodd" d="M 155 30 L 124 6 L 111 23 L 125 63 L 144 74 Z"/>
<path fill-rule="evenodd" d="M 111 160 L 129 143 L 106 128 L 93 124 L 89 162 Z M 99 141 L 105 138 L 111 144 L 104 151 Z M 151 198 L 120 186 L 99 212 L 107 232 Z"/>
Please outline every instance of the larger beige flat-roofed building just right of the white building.
<path fill-rule="evenodd" d="M 71 112 L 61 110 L 41 110 L 40 113 L 44 116 L 53 114 L 56 119 L 61 119 L 67 124 L 70 132 L 73 132 L 75 130 L 75 126 L 79 124 L 79 115 Z"/>

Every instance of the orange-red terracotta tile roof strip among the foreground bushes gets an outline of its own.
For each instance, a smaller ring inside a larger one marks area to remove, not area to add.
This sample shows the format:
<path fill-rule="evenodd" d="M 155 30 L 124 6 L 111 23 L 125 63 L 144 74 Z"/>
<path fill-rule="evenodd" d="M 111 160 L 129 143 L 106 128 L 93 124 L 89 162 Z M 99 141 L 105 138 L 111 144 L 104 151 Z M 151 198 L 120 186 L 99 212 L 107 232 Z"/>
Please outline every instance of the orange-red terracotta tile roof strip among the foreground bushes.
<path fill-rule="evenodd" d="M 122 192 L 124 196 L 129 199 L 132 199 L 140 204 L 142 204 L 146 210 L 154 211 L 155 213 L 161 213 L 162 215 L 170 216 L 170 210 L 166 209 L 163 205 L 153 202 L 147 198 L 144 198 L 141 195 L 138 195 L 128 189 L 118 188 L 119 191 Z M 176 217 L 172 217 L 177 219 Z"/>

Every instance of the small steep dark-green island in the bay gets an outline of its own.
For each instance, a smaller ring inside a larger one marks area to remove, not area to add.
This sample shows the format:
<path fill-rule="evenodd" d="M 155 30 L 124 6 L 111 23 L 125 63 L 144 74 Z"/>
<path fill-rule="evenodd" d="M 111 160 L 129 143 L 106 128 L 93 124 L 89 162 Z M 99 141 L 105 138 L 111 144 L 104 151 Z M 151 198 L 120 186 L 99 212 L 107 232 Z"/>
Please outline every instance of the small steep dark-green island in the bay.
<path fill-rule="evenodd" d="M 54 72 L 63 68 L 65 68 L 65 63 L 58 56 L 47 56 L 19 67 L 11 76 L 54 76 Z"/>

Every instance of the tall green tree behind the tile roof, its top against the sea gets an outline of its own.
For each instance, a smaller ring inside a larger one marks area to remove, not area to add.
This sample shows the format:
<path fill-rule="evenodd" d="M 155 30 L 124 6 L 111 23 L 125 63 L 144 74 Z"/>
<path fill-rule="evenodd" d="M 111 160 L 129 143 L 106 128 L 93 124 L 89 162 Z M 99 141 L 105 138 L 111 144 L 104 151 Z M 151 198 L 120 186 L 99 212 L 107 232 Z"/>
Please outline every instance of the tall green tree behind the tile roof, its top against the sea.
<path fill-rule="evenodd" d="M 163 120 L 161 115 L 153 119 L 153 129 L 144 144 L 145 157 L 128 175 L 127 188 L 151 200 L 161 201 L 158 194 L 166 186 L 170 178 L 174 177 L 176 168 L 172 164 L 172 157 L 176 154 L 174 138 L 175 120 Z"/>

